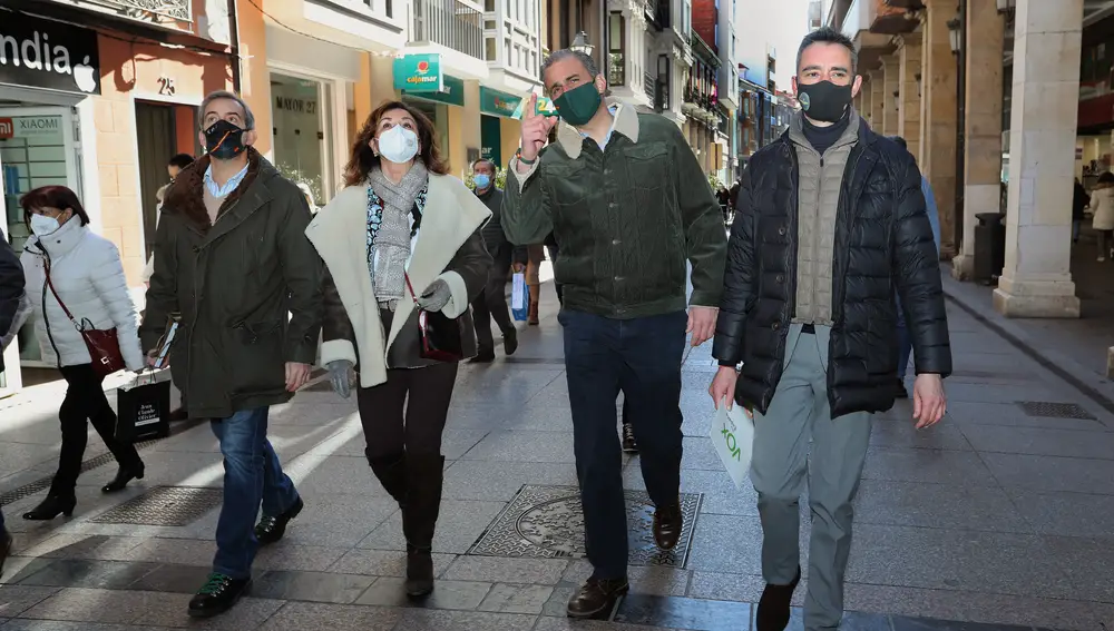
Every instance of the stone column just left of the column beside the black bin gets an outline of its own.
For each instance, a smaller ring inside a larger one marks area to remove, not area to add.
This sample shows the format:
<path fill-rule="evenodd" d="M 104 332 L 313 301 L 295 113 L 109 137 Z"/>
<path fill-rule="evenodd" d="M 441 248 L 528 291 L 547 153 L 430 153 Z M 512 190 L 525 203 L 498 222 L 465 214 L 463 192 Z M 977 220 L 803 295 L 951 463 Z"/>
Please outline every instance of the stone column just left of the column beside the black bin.
<path fill-rule="evenodd" d="M 924 124 L 920 169 L 928 177 L 940 215 L 940 257 L 956 254 L 956 56 L 951 52 L 948 20 L 956 17 L 956 0 L 926 2 L 921 60 Z M 1075 99 L 1073 99 L 1075 100 Z"/>

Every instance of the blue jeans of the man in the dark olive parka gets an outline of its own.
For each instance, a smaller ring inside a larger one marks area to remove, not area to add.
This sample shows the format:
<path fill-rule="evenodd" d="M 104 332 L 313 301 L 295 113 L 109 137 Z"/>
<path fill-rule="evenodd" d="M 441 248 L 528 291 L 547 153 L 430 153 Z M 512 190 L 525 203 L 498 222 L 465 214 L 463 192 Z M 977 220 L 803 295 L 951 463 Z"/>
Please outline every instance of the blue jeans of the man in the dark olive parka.
<path fill-rule="evenodd" d="M 216 524 L 213 571 L 247 579 L 260 542 L 255 517 L 280 515 L 297 501 L 294 483 L 282 471 L 278 455 L 267 441 L 268 407 L 244 410 L 213 421 L 213 433 L 224 455 L 224 505 Z"/>

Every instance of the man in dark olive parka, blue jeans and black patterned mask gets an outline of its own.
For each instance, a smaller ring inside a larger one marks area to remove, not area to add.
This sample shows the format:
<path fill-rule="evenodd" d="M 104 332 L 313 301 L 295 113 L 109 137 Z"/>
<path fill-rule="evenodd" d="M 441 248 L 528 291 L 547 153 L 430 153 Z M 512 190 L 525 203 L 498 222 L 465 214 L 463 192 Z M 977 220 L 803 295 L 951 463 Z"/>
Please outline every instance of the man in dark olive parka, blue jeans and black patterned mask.
<path fill-rule="evenodd" d="M 198 120 L 207 155 L 182 171 L 163 204 L 139 333 L 152 352 L 168 319 L 179 318 L 170 373 L 190 416 L 213 420 L 224 454 L 213 573 L 189 603 L 189 614 L 204 618 L 236 603 L 257 548 L 281 539 L 302 510 L 267 441 L 267 412 L 309 378 L 322 300 L 305 197 L 252 148 L 251 109 L 214 92 Z"/>

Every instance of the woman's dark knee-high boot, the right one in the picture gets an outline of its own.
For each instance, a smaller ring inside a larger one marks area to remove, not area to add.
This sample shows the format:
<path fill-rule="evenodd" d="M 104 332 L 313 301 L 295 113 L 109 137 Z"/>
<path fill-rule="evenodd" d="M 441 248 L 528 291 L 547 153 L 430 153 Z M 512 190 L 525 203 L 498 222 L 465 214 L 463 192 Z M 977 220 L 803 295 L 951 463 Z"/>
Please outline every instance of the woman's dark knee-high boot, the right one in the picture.
<path fill-rule="evenodd" d="M 408 455 L 407 501 L 402 532 L 407 538 L 407 595 L 422 598 L 433 591 L 433 532 L 441 509 L 442 455 Z"/>

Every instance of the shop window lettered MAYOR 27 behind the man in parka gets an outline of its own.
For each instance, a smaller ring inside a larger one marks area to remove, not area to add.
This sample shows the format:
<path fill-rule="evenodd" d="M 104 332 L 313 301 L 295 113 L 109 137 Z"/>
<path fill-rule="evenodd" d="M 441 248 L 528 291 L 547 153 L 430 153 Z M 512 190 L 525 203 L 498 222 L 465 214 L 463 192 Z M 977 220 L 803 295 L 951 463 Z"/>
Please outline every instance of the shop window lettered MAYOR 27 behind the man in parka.
<path fill-rule="evenodd" d="M 305 184 L 317 206 L 332 198 L 332 85 L 271 73 L 275 166 L 292 181 Z"/>

